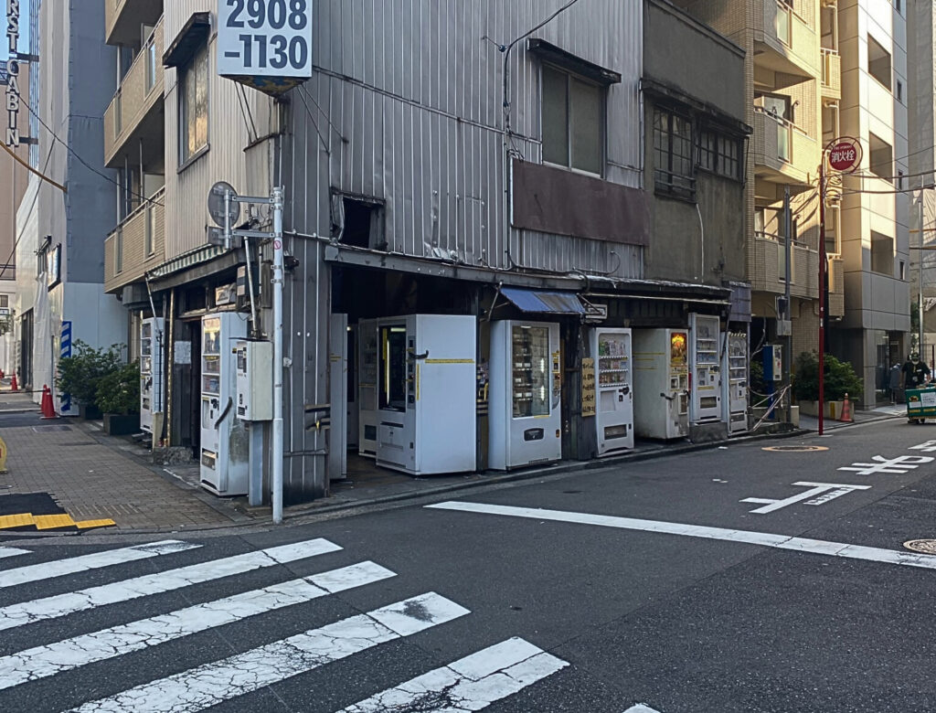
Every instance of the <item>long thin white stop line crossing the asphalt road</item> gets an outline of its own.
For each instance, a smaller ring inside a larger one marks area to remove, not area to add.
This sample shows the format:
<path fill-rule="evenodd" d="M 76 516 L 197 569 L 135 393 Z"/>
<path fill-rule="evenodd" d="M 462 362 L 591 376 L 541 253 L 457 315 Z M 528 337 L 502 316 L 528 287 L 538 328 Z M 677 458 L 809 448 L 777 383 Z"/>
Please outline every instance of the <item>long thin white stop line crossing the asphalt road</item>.
<path fill-rule="evenodd" d="M 871 560 L 886 562 L 888 564 L 904 564 L 908 567 L 923 567 L 930 570 L 936 569 L 936 555 L 921 555 L 914 552 L 899 552 L 894 549 L 849 545 L 841 542 L 826 542 L 825 540 L 809 540 L 803 537 L 791 537 L 789 535 L 771 534 L 769 532 L 726 530 L 724 528 L 710 528 L 704 525 L 684 525 L 679 522 L 639 520 L 633 517 L 612 517 L 608 515 L 592 515 L 589 513 L 569 513 L 562 510 L 540 510 L 533 507 L 488 505 L 483 502 L 438 502 L 434 505 L 426 505 L 426 507 L 436 510 L 458 510 L 463 513 L 478 513 L 481 515 L 505 515 L 509 517 L 526 517 L 534 520 L 551 520 L 553 522 L 572 522 L 579 525 L 598 525 L 600 527 L 617 528 L 619 530 L 661 532 L 663 534 L 677 534 L 687 537 L 702 537 L 708 540 L 737 542 L 744 545 L 794 549 L 799 552 L 812 552 L 812 554 L 829 555 L 831 557 L 845 557 L 851 560 Z"/>

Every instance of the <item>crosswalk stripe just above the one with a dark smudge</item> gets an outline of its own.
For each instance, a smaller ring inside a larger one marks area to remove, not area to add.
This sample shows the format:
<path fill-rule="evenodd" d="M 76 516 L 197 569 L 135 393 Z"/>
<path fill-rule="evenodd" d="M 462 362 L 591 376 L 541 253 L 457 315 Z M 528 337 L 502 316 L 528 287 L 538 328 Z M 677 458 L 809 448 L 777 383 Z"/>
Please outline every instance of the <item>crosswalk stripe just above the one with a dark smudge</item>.
<path fill-rule="evenodd" d="M 395 576 L 367 561 L 0 658 L 0 690 Z"/>

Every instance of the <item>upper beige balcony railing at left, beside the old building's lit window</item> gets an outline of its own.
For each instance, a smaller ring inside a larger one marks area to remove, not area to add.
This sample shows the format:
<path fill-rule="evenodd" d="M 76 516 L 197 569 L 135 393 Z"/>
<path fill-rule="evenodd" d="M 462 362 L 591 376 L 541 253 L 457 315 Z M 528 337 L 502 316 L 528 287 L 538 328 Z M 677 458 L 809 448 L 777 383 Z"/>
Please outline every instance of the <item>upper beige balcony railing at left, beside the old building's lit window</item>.
<path fill-rule="evenodd" d="M 160 20 L 104 112 L 105 163 L 110 164 L 140 122 L 163 100 L 163 43 L 163 21 Z"/>

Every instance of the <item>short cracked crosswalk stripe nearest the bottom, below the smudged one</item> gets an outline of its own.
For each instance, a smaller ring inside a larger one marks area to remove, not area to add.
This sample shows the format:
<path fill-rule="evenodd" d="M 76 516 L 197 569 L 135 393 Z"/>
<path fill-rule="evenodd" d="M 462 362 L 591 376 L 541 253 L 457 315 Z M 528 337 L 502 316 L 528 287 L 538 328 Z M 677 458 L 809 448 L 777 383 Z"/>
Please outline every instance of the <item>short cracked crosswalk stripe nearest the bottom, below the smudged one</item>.
<path fill-rule="evenodd" d="M 569 665 L 520 638 L 382 691 L 340 713 L 388 710 L 481 710 Z"/>

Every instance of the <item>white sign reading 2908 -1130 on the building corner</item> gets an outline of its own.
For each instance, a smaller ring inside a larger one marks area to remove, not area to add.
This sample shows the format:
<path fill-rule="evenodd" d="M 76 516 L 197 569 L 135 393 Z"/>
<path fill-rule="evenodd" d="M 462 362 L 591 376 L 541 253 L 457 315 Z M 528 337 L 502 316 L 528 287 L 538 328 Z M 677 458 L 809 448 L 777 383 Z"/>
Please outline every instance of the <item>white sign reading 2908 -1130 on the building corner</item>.
<path fill-rule="evenodd" d="M 218 74 L 312 77 L 313 0 L 218 0 Z"/>

